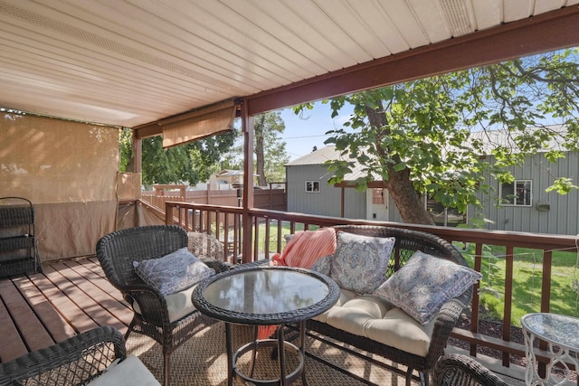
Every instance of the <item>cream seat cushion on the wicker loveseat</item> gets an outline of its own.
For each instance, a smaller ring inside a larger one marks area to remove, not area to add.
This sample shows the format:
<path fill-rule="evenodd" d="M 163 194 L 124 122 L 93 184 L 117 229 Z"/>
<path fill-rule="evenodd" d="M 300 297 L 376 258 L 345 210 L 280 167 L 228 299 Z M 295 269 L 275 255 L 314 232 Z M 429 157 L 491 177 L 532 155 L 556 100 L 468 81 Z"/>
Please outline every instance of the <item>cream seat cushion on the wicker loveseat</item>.
<path fill-rule="evenodd" d="M 346 289 L 340 289 L 335 306 L 314 319 L 419 356 L 428 354 L 434 328 L 433 321 L 422 325 L 380 297 Z"/>

